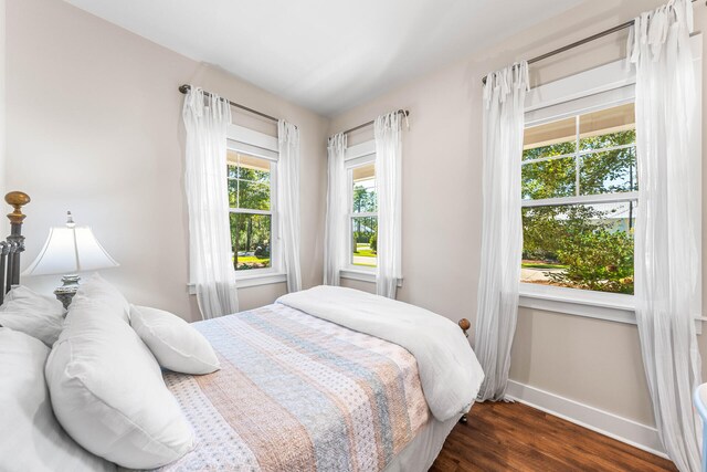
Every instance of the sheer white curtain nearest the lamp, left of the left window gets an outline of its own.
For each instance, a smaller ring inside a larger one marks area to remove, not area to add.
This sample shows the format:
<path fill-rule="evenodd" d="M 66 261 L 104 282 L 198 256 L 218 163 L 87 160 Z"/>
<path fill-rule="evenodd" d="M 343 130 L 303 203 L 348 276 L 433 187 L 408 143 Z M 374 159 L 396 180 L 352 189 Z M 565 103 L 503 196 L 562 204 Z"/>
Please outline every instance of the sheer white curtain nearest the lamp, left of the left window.
<path fill-rule="evenodd" d="M 218 95 L 205 99 L 201 88 L 191 87 L 182 108 L 187 129 L 189 270 L 204 319 L 239 311 L 226 189 L 226 127 L 231 123 L 231 108 Z"/>

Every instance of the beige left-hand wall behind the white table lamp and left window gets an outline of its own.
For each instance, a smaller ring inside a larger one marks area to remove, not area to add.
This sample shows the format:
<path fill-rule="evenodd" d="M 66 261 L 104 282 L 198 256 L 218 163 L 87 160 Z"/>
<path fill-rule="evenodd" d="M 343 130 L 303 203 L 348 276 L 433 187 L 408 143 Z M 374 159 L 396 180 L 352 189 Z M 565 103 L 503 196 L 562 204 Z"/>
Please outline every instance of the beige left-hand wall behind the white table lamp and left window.
<path fill-rule="evenodd" d="M 8 186 L 32 198 L 24 265 L 72 210 L 122 264 L 104 276 L 131 302 L 199 317 L 187 291 L 183 95 L 177 90 L 192 83 L 298 125 L 303 281 L 320 282 L 326 119 L 61 0 L 8 2 L 7 55 Z M 273 124 L 235 115 L 275 135 Z M 24 282 L 51 291 L 59 276 Z M 241 307 L 272 303 L 285 290 L 241 289 Z"/>

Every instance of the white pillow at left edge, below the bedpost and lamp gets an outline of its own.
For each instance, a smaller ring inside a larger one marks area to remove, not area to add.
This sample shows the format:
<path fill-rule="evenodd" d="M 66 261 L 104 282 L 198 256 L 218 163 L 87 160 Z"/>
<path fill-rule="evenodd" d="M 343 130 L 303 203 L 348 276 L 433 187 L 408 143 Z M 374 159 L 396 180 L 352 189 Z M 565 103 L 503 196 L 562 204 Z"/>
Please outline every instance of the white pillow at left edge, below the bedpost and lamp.
<path fill-rule="evenodd" d="M 0 306 L 0 326 L 29 334 L 52 347 L 62 332 L 65 313 L 55 297 L 17 286 L 6 295 Z"/>

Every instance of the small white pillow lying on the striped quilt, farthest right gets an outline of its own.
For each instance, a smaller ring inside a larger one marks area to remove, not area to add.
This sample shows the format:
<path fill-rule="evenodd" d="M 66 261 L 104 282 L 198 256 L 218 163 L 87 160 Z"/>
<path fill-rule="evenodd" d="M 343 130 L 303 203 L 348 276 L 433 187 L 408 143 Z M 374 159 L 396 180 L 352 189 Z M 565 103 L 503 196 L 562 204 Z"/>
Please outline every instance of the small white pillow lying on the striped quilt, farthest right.
<path fill-rule="evenodd" d="M 166 369 L 201 375 L 221 368 L 207 338 L 177 315 L 130 305 L 130 324 Z"/>

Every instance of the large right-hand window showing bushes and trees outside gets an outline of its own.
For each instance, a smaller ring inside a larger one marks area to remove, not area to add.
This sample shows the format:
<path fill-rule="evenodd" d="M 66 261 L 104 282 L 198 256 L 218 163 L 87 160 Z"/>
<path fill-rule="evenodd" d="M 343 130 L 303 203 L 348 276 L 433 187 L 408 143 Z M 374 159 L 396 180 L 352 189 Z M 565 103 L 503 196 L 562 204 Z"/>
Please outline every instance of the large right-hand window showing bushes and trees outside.
<path fill-rule="evenodd" d="M 633 103 L 525 132 L 521 282 L 633 294 Z"/>

